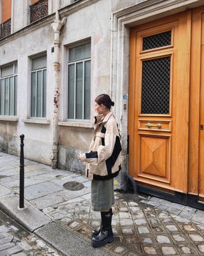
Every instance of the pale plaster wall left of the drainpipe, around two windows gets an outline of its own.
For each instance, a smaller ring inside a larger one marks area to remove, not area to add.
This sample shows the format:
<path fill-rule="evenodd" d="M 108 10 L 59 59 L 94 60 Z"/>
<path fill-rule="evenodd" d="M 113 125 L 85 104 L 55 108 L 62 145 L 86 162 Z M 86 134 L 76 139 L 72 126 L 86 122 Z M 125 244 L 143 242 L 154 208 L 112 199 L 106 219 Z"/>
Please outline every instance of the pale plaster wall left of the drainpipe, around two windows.
<path fill-rule="evenodd" d="M 18 61 L 17 117 L 18 122 L 0 121 L 1 150 L 19 154 L 20 134 L 25 134 L 25 158 L 50 164 L 52 124 L 29 124 L 31 93 L 31 66 L 29 56 L 47 52 L 47 119 L 52 123 L 52 95 L 54 68 L 51 52 L 53 33 L 50 24 L 43 28 L 16 36 L 0 45 L 0 65 Z"/>

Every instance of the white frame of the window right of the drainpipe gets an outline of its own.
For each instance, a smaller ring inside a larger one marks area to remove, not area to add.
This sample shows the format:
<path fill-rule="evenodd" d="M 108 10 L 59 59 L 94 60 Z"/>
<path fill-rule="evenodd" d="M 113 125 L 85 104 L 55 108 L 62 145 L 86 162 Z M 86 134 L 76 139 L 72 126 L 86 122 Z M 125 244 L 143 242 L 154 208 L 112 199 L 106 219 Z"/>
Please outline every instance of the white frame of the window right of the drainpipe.
<path fill-rule="evenodd" d="M 84 85 L 85 85 L 85 62 L 86 61 L 90 61 L 90 67 L 91 67 L 91 52 L 90 52 L 90 57 L 89 58 L 82 58 L 82 59 L 78 59 L 78 60 L 73 60 L 73 61 L 69 61 L 69 50 L 72 49 L 72 48 L 75 48 L 75 47 L 78 47 L 78 46 L 81 46 L 81 45 L 85 45 L 85 44 L 90 44 L 91 45 L 91 40 L 85 40 L 83 42 L 78 42 L 78 43 L 75 43 L 75 44 L 70 44 L 68 45 L 66 51 L 67 51 L 67 61 L 66 61 L 66 72 L 67 72 L 67 79 L 66 79 L 66 90 L 67 90 L 67 93 L 66 93 L 66 120 L 68 122 L 77 122 L 77 123 L 89 123 L 91 121 L 91 68 L 90 68 L 90 118 L 89 119 L 85 119 L 84 118 L 84 104 L 85 104 L 85 100 L 84 100 Z M 78 119 L 76 118 L 76 84 L 77 84 L 77 79 L 76 79 L 76 70 L 77 70 L 77 63 L 83 63 L 83 81 L 82 81 L 82 88 L 83 88 L 83 103 L 82 103 L 82 119 Z M 74 70 L 75 70 L 75 88 L 74 88 L 74 93 L 75 93 L 75 97 L 74 97 L 74 117 L 75 118 L 68 118 L 68 108 L 69 108 L 69 66 L 70 65 L 75 65 L 74 67 Z"/>

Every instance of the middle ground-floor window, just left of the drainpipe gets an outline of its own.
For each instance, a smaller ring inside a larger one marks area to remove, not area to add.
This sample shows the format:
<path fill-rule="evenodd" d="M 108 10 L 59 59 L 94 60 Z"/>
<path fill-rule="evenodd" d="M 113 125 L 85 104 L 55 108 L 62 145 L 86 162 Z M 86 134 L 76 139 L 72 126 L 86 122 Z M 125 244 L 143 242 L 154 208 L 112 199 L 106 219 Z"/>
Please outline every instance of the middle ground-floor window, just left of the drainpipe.
<path fill-rule="evenodd" d="M 31 60 L 31 117 L 46 116 L 47 56 Z"/>

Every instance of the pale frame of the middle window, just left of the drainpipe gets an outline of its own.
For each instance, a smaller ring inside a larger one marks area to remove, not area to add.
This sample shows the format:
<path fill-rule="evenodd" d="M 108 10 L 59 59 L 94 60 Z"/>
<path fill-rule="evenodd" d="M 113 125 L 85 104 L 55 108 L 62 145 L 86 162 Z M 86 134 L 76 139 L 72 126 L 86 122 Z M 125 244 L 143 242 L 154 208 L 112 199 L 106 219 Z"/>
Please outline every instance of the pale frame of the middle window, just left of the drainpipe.
<path fill-rule="evenodd" d="M 40 57 L 46 57 L 46 67 L 44 68 L 35 68 L 34 70 L 32 70 L 32 64 L 33 64 L 33 60 L 38 59 Z M 31 92 L 30 92 L 30 113 L 29 116 L 31 119 L 46 119 L 47 118 L 47 52 L 43 52 L 42 54 L 38 54 L 38 55 L 34 55 L 30 58 L 30 83 L 31 83 Z M 45 90 L 45 116 L 43 116 L 43 71 L 46 70 L 46 90 Z M 41 116 L 37 116 L 38 115 L 38 100 L 37 100 L 37 92 L 38 92 L 38 72 L 41 72 L 42 76 L 41 76 Z M 32 74 L 36 73 L 36 102 L 35 102 L 35 109 L 34 109 L 34 113 L 35 116 L 32 116 Z"/>

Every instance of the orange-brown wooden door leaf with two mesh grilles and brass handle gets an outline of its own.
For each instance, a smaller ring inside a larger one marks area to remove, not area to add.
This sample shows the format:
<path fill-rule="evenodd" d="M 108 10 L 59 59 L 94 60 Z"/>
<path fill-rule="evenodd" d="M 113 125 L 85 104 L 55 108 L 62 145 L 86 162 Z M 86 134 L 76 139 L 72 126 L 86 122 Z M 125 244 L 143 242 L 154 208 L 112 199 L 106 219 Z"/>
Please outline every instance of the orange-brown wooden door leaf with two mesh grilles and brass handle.
<path fill-rule="evenodd" d="M 131 29 L 129 174 L 187 193 L 189 37 L 184 12 Z"/>

